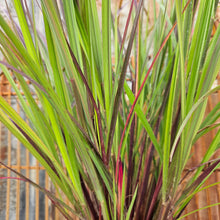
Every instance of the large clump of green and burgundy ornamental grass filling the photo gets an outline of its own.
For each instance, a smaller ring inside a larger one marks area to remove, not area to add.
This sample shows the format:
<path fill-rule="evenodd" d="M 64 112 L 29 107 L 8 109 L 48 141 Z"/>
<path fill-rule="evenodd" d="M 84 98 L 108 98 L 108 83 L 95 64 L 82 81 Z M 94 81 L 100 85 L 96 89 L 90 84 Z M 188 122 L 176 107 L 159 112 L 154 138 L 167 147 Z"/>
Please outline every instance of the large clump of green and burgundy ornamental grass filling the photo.
<path fill-rule="evenodd" d="M 118 1 L 113 11 L 103 0 L 100 14 L 95 0 L 31 2 L 13 1 L 18 21 L 0 15 L 0 67 L 28 121 L 3 97 L 0 121 L 71 206 L 13 170 L 18 181 L 43 191 L 66 219 L 184 218 L 220 166 L 211 160 L 218 129 L 183 184 L 193 145 L 219 128 L 220 103 L 205 116 L 209 95 L 220 89 L 212 88 L 220 70 L 220 28 L 211 37 L 218 0 L 175 0 L 169 13 L 171 1 L 158 1 L 157 13 L 154 0 L 153 25 L 143 0 Z"/>

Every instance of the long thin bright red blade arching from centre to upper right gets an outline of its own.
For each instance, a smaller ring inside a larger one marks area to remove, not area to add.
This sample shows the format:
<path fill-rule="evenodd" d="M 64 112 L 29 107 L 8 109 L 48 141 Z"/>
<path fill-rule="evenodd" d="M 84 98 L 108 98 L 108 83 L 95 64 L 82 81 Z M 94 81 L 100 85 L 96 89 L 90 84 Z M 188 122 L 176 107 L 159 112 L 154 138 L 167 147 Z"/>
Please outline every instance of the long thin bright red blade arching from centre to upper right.
<path fill-rule="evenodd" d="M 191 0 L 189 0 L 189 1 L 187 2 L 187 4 L 186 4 L 186 6 L 184 7 L 182 13 L 184 13 L 184 11 L 186 10 L 186 8 L 187 8 L 187 6 L 189 5 L 190 1 L 191 1 Z M 171 28 L 171 30 L 169 31 L 169 33 L 168 33 L 167 36 L 165 37 L 165 39 L 164 39 L 162 45 L 160 46 L 160 48 L 159 48 L 159 50 L 158 50 L 156 56 L 154 57 L 154 59 L 153 59 L 151 65 L 150 65 L 150 67 L 149 67 L 149 69 L 148 69 L 148 71 L 147 71 L 147 74 L 146 74 L 145 77 L 144 77 L 144 80 L 143 80 L 143 82 L 142 82 L 142 84 L 141 84 L 141 86 L 140 86 L 140 89 L 138 90 L 138 93 L 137 93 L 137 95 L 136 95 L 136 97 L 135 97 L 135 100 L 134 100 L 134 102 L 133 102 L 133 104 L 132 104 L 132 106 L 131 106 L 130 112 L 129 112 L 129 114 L 128 114 L 128 117 L 127 117 L 127 120 L 126 120 L 126 123 L 125 123 L 125 126 L 124 126 L 124 130 L 123 130 L 123 132 L 122 132 L 120 144 L 119 144 L 119 147 L 118 147 L 118 156 L 117 156 L 117 162 L 116 162 L 116 176 L 117 176 L 117 173 L 118 173 L 119 158 L 120 158 L 120 153 L 121 153 L 121 148 L 122 148 L 123 140 L 124 140 L 124 137 L 125 137 L 125 132 L 126 132 L 126 129 L 127 129 L 128 124 L 129 124 L 129 122 L 130 122 L 130 120 L 131 120 L 132 114 L 133 114 L 133 112 L 134 112 L 134 107 L 135 107 L 135 105 L 136 105 L 136 103 L 137 103 L 137 101 L 138 101 L 138 98 L 140 97 L 140 94 L 141 94 L 141 92 L 142 92 L 142 90 L 143 90 L 143 88 L 144 88 L 144 85 L 145 85 L 145 83 L 146 83 L 146 80 L 147 80 L 147 78 L 148 78 L 148 76 L 149 76 L 149 74 L 150 74 L 150 72 L 151 72 L 151 70 L 152 70 L 152 68 L 153 68 L 153 66 L 154 66 L 154 64 L 155 64 L 155 62 L 156 62 L 156 60 L 157 60 L 157 58 L 159 57 L 159 55 L 160 55 L 162 49 L 164 48 L 165 44 L 167 43 L 167 41 L 168 41 L 168 39 L 169 39 L 171 33 L 173 32 L 174 28 L 176 27 L 176 24 L 177 24 L 177 22 L 174 23 L 173 27 Z M 120 88 L 120 86 L 119 86 L 119 88 Z"/>

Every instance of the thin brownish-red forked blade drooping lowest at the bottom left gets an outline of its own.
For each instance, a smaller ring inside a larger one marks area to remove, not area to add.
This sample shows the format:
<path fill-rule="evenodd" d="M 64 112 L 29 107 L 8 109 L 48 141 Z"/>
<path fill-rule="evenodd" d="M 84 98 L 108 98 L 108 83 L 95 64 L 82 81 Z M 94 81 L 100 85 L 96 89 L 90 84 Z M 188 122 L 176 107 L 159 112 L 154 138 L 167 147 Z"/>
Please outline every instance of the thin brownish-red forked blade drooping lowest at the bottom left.
<path fill-rule="evenodd" d="M 24 182 L 28 182 L 30 183 L 32 186 L 34 186 L 35 188 L 37 188 L 38 190 L 40 190 L 41 192 L 43 192 L 45 195 L 48 196 L 48 198 L 51 200 L 51 202 L 53 203 L 53 205 L 60 211 L 60 213 L 63 215 L 63 217 L 67 220 L 72 220 L 72 217 L 67 213 L 66 210 L 72 212 L 74 215 L 77 215 L 77 213 L 72 210 L 69 206 L 67 206 L 63 201 L 57 199 L 53 193 L 51 193 L 50 191 L 48 191 L 47 189 L 41 187 L 40 185 L 34 183 L 33 181 L 31 181 L 30 179 L 28 179 L 27 177 L 25 177 L 24 175 L 22 175 L 21 173 L 17 172 L 16 170 L 10 168 L 9 166 L 5 165 L 4 163 L 2 163 L 0 161 L 0 164 L 4 167 L 6 167 L 7 169 L 9 169 L 10 171 L 12 171 L 13 173 L 15 173 L 16 175 L 20 176 L 20 178 L 17 177 L 0 177 L 0 179 L 15 179 L 15 180 L 21 180 Z M 79 216 L 80 217 L 80 216 Z"/>

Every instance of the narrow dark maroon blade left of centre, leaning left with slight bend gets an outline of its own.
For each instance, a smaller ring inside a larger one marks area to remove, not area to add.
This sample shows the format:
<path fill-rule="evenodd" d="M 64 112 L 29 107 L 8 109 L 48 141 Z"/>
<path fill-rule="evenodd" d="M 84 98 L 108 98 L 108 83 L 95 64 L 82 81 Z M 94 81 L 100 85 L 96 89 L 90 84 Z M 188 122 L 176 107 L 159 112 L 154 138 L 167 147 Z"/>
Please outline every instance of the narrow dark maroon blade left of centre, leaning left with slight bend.
<path fill-rule="evenodd" d="M 77 71 L 78 71 L 78 73 L 79 73 L 79 75 L 80 75 L 80 77 L 81 77 L 85 87 L 86 87 L 88 96 L 90 97 L 91 102 L 92 102 L 92 104 L 93 104 L 93 106 L 95 108 L 95 111 L 96 111 L 96 114 L 97 114 L 97 118 L 98 118 L 98 129 L 99 129 L 99 136 L 100 136 L 102 159 L 103 159 L 104 164 L 107 165 L 107 157 L 106 157 L 106 153 L 105 153 L 104 139 L 103 139 L 103 133 L 102 133 L 101 113 L 100 113 L 99 108 L 98 108 L 98 106 L 97 106 L 97 104 L 95 102 L 95 99 L 94 99 L 94 97 L 92 95 L 92 92 L 91 92 L 91 90 L 89 88 L 87 80 L 86 80 L 86 78 L 85 78 L 85 76 L 84 76 L 84 74 L 83 74 L 83 72 L 82 72 L 82 70 L 81 70 L 81 68 L 80 68 L 80 66 L 79 66 L 79 64 L 77 62 L 77 59 L 76 59 L 76 57 L 75 57 L 75 55 L 74 55 L 74 53 L 73 53 L 73 51 L 72 51 L 72 49 L 71 49 L 71 47 L 70 47 L 70 45 L 69 45 L 67 40 L 66 40 L 66 43 L 68 45 L 69 52 L 70 52 L 70 55 L 72 57 L 72 61 L 73 61 L 74 65 L 75 65 L 75 67 L 76 67 L 76 69 L 77 69 Z"/>

